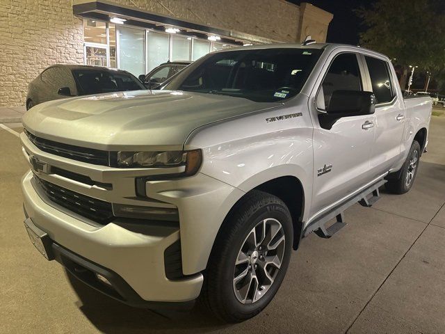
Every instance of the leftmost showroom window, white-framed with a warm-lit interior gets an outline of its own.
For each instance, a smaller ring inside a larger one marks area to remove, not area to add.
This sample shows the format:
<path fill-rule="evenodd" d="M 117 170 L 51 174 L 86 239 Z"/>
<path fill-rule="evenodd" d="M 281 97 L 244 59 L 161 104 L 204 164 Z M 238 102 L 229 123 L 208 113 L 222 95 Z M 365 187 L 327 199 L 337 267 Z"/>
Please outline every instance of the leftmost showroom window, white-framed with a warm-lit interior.
<path fill-rule="evenodd" d="M 83 20 L 84 61 L 86 65 L 108 66 L 106 22 Z"/>

